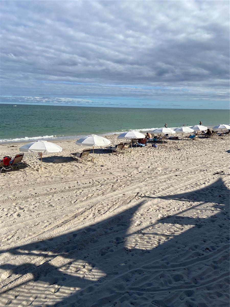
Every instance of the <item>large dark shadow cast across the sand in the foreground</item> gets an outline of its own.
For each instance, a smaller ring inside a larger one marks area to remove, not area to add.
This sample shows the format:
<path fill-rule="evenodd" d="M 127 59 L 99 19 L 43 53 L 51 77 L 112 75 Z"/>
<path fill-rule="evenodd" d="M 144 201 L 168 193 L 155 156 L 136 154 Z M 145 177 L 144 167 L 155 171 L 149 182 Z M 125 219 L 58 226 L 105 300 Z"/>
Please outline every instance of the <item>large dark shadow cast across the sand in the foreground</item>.
<path fill-rule="evenodd" d="M 133 215 L 150 199 L 189 201 L 191 207 L 132 233 Z M 146 196 L 98 224 L 1 251 L 38 258 L 36 265 L 0 266 L 15 274 L 2 297 L 17 293 L 13 307 L 25 300 L 33 306 L 227 306 L 228 199 L 219 179 L 193 192 Z"/>

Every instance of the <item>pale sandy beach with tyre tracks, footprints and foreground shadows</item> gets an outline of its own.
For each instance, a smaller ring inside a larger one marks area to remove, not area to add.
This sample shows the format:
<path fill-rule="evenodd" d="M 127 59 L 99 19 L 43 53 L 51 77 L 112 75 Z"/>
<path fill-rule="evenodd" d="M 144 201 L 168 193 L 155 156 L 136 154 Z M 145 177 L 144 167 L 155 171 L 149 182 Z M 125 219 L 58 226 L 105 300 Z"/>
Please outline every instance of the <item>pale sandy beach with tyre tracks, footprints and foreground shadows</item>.
<path fill-rule="evenodd" d="M 0 306 L 228 306 L 229 140 L 25 154 L 0 177 Z"/>

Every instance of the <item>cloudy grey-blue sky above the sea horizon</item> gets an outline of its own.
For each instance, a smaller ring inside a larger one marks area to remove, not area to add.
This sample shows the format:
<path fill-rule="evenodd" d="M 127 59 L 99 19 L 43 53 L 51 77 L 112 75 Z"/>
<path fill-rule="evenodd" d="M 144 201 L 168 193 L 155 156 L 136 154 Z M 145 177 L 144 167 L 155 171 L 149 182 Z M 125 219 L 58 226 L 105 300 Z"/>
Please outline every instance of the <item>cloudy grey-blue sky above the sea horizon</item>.
<path fill-rule="evenodd" d="M 1 102 L 229 108 L 229 1 L 1 1 Z"/>

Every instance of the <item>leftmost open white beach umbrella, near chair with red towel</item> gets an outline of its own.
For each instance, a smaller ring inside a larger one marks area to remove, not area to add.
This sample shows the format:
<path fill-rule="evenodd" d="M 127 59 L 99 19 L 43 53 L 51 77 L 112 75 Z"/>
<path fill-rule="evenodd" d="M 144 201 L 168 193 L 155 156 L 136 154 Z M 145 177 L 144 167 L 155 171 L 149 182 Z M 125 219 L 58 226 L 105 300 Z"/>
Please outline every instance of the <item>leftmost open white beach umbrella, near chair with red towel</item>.
<path fill-rule="evenodd" d="M 41 157 L 41 169 L 42 169 L 42 154 L 59 153 L 62 151 L 62 148 L 54 143 L 39 140 L 21 146 L 19 148 L 19 151 L 26 153 L 28 152 L 39 153 Z"/>

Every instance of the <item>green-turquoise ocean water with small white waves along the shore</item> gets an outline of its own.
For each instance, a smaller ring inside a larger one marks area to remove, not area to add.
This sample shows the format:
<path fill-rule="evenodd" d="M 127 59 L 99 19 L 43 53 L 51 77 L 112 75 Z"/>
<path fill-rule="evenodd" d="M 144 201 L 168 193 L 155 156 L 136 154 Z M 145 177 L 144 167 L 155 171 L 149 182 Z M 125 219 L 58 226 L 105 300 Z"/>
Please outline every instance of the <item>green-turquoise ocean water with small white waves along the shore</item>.
<path fill-rule="evenodd" d="M 0 104 L 0 142 L 79 138 L 128 130 L 229 124 L 229 110 L 138 109 Z"/>

